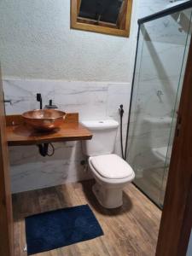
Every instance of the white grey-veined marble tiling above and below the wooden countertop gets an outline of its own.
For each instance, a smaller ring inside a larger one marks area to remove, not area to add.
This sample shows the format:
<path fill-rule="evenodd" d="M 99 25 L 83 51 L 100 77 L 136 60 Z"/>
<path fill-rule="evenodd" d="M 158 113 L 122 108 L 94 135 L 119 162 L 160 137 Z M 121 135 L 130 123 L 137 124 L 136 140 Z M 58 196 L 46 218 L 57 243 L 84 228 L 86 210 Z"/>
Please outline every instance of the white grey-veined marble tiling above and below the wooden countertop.
<path fill-rule="evenodd" d="M 44 104 L 54 103 L 67 112 L 79 112 L 79 119 L 116 119 L 119 121 L 119 104 L 124 104 L 124 138 L 130 101 L 131 85 L 126 83 L 95 83 L 55 80 L 3 81 L 5 97 L 12 100 L 6 104 L 6 113 L 23 113 L 38 108 L 36 93 L 42 93 Z M 41 189 L 61 183 L 76 182 L 91 177 L 81 166 L 80 142 L 54 143 L 55 154 L 42 157 L 36 146 L 9 147 L 11 186 L 13 193 Z M 120 154 L 119 131 L 115 153 Z"/>

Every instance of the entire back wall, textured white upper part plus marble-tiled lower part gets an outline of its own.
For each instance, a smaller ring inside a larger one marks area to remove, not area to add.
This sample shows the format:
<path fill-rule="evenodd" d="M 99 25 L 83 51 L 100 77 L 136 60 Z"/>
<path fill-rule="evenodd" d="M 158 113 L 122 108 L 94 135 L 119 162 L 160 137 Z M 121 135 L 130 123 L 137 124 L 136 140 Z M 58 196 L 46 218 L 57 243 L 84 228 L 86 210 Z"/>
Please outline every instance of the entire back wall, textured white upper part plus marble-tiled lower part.
<path fill-rule="evenodd" d="M 80 119 L 113 118 L 130 101 L 137 17 L 165 7 L 168 0 L 133 1 L 131 37 L 70 29 L 69 0 L 8 0 L 0 3 L 0 60 L 7 113 L 37 108 L 35 95 L 55 100 Z M 77 81 L 77 82 L 72 82 Z M 96 83 L 98 81 L 99 83 Z M 122 83 L 123 82 L 123 83 Z M 35 146 L 11 147 L 12 191 L 44 188 L 90 177 L 80 166 L 80 143 L 56 143 L 55 155 L 39 156 Z M 120 154 L 119 133 L 115 152 Z"/>

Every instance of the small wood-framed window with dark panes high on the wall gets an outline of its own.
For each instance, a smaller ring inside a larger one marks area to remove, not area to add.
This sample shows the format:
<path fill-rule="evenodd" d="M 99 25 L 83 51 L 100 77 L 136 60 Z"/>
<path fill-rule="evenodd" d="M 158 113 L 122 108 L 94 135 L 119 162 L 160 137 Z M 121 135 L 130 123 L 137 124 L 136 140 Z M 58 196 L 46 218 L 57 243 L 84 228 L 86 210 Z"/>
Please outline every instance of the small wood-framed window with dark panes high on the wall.
<path fill-rule="evenodd" d="M 129 37 L 132 0 L 71 0 L 71 27 Z"/>

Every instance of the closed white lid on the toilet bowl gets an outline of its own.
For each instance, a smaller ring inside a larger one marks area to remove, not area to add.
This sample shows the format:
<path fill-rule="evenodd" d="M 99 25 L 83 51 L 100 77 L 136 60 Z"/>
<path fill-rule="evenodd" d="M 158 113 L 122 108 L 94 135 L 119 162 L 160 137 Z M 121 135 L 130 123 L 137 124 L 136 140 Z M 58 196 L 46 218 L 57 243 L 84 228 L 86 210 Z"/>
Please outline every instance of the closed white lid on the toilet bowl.
<path fill-rule="evenodd" d="M 125 178 L 133 174 L 130 165 L 117 154 L 104 154 L 90 158 L 92 166 L 102 177 Z"/>

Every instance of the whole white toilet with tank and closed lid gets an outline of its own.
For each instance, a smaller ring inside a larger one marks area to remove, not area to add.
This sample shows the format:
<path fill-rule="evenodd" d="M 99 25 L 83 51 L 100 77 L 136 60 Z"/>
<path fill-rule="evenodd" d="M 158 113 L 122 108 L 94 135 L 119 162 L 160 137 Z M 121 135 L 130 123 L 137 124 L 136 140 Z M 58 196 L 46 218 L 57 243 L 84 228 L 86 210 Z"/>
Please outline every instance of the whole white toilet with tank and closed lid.
<path fill-rule="evenodd" d="M 90 141 L 82 141 L 85 155 L 89 157 L 90 172 L 96 179 L 93 192 L 102 207 L 116 208 L 123 204 L 122 192 L 135 177 L 131 166 L 113 154 L 118 122 L 108 119 L 83 121 L 93 134 Z"/>

